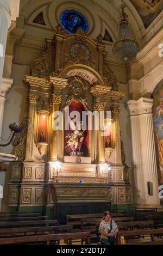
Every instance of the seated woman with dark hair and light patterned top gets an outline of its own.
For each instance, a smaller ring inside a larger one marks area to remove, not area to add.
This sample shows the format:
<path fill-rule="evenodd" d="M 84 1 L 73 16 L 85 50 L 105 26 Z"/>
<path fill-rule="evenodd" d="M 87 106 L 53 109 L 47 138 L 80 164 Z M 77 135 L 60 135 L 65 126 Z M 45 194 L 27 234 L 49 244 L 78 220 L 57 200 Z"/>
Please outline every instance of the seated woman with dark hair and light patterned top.
<path fill-rule="evenodd" d="M 114 245 L 118 227 L 115 221 L 111 219 L 109 211 L 104 212 L 104 217 L 99 224 L 99 233 L 101 234 L 102 245 Z"/>

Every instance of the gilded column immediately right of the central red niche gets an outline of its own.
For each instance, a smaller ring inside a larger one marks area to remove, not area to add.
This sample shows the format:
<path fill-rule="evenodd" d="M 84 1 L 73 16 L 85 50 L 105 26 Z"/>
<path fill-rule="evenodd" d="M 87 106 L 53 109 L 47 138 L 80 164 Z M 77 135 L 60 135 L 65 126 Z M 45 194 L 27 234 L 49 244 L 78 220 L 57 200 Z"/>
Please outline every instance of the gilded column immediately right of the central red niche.
<path fill-rule="evenodd" d="M 98 126 L 99 129 L 97 131 L 97 147 L 98 147 L 98 163 L 105 163 L 105 141 L 104 136 L 102 136 L 102 133 L 104 131 L 104 127 L 101 127 L 102 123 L 104 123 L 104 120 L 101 120 L 100 112 L 104 111 L 105 103 L 95 103 L 94 105 L 95 111 L 98 111 Z"/>

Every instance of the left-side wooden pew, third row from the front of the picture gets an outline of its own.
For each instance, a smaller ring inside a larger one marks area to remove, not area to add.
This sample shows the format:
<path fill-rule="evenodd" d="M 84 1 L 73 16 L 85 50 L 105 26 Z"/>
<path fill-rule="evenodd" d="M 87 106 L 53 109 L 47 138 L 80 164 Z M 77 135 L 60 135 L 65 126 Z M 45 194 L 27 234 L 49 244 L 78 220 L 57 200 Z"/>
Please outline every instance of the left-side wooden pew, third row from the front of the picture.
<path fill-rule="evenodd" d="M 43 221 L 13 221 L 0 222 L 0 229 L 3 227 L 27 227 L 33 225 L 57 225 L 58 220 L 43 220 Z"/>

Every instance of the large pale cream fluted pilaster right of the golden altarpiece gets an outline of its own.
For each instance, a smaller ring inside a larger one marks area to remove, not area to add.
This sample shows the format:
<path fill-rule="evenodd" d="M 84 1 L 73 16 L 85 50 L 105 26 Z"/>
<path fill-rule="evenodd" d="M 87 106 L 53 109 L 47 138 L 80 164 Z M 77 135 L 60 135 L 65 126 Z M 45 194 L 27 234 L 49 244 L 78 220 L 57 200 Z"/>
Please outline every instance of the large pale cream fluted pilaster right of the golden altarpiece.
<path fill-rule="evenodd" d="M 152 105 L 153 99 L 145 97 L 127 102 L 131 126 L 134 203 L 138 208 L 160 206 Z M 148 196 L 148 181 L 152 182 L 152 196 Z"/>

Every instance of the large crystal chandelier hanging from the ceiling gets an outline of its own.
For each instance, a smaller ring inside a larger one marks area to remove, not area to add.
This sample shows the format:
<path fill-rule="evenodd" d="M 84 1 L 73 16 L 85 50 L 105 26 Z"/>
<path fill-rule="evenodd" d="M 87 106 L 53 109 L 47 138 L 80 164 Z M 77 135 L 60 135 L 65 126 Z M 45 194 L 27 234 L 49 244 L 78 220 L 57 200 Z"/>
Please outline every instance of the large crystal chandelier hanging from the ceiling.
<path fill-rule="evenodd" d="M 128 24 L 128 15 L 125 13 L 124 8 L 126 4 L 120 5 L 122 14 L 120 19 L 120 29 L 118 34 L 118 40 L 112 46 L 112 53 L 114 56 L 123 63 L 133 60 L 139 52 L 139 44 L 132 38 L 131 31 Z"/>

